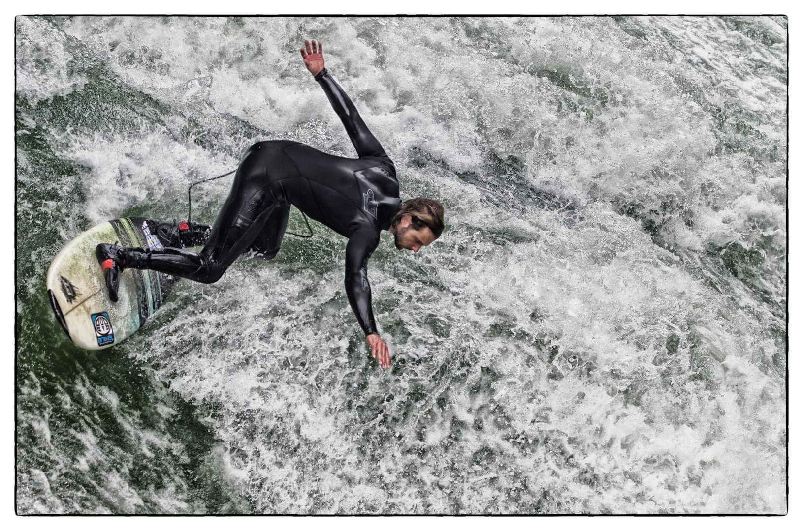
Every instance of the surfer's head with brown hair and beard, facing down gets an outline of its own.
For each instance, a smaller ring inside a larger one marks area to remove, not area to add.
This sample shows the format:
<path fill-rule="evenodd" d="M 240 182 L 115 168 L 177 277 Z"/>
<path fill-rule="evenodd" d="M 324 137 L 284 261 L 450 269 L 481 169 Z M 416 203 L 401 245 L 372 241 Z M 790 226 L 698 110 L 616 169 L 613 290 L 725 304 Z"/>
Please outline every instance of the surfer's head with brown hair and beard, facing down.
<path fill-rule="evenodd" d="M 390 222 L 390 232 L 397 249 L 418 253 L 443 232 L 443 205 L 426 197 L 405 201 Z"/>

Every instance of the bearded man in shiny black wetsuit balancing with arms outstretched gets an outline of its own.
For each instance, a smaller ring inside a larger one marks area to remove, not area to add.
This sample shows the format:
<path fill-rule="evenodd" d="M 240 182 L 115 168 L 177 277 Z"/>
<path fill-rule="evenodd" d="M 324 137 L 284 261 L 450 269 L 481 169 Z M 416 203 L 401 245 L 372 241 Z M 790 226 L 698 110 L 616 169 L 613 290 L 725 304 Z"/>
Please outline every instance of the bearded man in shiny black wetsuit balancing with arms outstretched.
<path fill-rule="evenodd" d="M 398 249 L 418 252 L 443 230 L 443 207 L 416 197 L 399 199 L 393 160 L 365 126 L 349 96 L 324 68 L 323 47 L 304 41 L 301 56 L 332 103 L 357 150 L 357 159 L 320 152 L 291 140 L 268 140 L 248 148 L 237 168 L 229 197 L 200 253 L 184 249 L 122 248 L 100 244 L 109 298 L 116 302 L 126 268 L 156 270 L 198 282 L 217 282 L 248 250 L 271 259 L 279 252 L 290 205 L 349 238 L 345 287 L 349 303 L 379 366 L 390 366 L 388 347 L 377 333 L 371 310 L 367 262 L 381 230 L 393 233 Z"/>

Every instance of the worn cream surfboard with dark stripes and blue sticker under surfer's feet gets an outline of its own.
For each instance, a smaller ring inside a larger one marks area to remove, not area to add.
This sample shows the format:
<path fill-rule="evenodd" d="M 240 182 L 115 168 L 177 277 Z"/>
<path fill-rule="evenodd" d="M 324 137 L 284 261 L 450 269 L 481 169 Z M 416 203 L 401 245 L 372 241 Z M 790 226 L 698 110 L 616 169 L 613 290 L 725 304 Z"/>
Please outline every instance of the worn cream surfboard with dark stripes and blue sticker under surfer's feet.
<path fill-rule="evenodd" d="M 112 347 L 140 329 L 159 309 L 178 280 L 148 270 L 124 270 L 117 302 L 108 298 L 100 264 L 99 243 L 161 249 L 158 221 L 123 217 L 96 225 L 67 242 L 47 270 L 47 293 L 56 320 L 79 347 Z"/>

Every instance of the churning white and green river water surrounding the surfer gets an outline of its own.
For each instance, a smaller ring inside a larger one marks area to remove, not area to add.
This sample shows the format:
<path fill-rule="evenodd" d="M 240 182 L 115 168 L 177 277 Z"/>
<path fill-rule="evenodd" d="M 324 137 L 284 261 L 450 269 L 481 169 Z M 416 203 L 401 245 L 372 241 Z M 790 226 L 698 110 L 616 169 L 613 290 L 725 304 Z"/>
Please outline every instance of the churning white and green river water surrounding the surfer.
<path fill-rule="evenodd" d="M 16 26 L 21 513 L 785 513 L 785 18 Z M 369 261 L 393 370 L 317 224 L 73 347 L 81 230 L 184 219 L 255 141 L 354 156 L 305 38 L 446 208 Z"/>

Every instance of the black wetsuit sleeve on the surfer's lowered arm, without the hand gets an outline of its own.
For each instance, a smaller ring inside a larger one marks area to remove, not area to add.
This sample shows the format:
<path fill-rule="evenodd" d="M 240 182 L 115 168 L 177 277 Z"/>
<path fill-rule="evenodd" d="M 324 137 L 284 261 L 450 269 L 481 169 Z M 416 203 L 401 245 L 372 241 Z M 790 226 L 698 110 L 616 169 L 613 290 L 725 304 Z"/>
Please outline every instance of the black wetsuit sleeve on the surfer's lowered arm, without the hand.
<path fill-rule="evenodd" d="M 357 231 L 346 245 L 346 295 L 365 335 L 378 334 L 371 309 L 371 285 L 368 282 L 368 259 L 379 244 L 373 230 Z"/>

